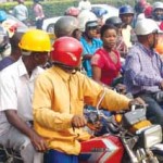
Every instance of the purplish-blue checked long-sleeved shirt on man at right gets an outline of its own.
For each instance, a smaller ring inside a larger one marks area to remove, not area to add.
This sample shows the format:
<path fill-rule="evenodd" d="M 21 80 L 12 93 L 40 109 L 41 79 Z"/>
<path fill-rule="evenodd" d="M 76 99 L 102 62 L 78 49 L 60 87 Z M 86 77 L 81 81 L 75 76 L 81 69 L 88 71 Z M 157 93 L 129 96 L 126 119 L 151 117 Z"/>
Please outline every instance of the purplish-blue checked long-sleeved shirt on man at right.
<path fill-rule="evenodd" d="M 124 68 L 124 83 L 133 95 L 160 90 L 159 85 L 163 80 L 163 64 L 155 51 L 136 43 L 127 55 Z"/>

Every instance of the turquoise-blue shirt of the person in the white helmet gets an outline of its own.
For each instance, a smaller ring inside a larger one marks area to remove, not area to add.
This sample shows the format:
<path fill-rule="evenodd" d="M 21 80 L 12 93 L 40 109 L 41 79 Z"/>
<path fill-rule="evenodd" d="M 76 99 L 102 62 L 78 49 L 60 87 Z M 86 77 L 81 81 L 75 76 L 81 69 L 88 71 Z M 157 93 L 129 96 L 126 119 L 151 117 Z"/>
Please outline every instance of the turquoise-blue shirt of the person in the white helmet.
<path fill-rule="evenodd" d="M 85 54 L 93 54 L 97 49 L 101 48 L 102 47 L 102 40 L 101 39 L 98 39 L 98 38 L 93 38 L 92 39 L 92 43 L 88 43 L 86 41 L 86 39 L 84 37 L 80 38 L 80 42 L 83 45 L 83 48 L 84 48 L 84 52 L 83 52 L 83 55 Z M 87 75 L 89 77 L 92 76 L 92 73 L 91 73 L 91 64 L 90 64 L 90 60 L 85 60 L 83 62 L 83 66 L 85 68 L 85 71 L 87 72 Z"/>

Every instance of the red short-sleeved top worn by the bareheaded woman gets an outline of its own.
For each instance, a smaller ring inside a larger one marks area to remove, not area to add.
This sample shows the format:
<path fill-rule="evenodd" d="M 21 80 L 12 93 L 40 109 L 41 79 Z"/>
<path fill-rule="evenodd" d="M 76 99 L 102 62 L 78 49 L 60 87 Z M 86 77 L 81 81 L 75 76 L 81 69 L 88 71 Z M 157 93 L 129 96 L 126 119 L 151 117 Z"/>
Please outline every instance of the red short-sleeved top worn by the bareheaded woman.
<path fill-rule="evenodd" d="M 91 59 L 91 65 L 96 65 L 101 68 L 101 82 L 105 85 L 111 85 L 113 79 L 117 77 L 121 70 L 120 53 L 114 50 L 117 57 L 117 63 L 114 63 L 110 58 L 110 54 L 103 48 L 96 51 Z"/>

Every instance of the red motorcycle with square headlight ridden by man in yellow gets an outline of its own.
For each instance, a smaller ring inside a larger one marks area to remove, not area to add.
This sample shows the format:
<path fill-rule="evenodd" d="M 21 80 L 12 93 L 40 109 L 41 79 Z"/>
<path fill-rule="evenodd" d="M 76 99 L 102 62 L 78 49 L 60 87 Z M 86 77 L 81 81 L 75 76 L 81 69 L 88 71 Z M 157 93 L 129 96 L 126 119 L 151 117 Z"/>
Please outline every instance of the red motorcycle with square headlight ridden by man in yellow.
<path fill-rule="evenodd" d="M 134 105 L 130 111 L 105 116 L 99 105 L 85 110 L 87 131 L 95 138 L 82 142 L 79 163 L 162 162 L 162 127 L 146 118 L 146 108 Z"/>

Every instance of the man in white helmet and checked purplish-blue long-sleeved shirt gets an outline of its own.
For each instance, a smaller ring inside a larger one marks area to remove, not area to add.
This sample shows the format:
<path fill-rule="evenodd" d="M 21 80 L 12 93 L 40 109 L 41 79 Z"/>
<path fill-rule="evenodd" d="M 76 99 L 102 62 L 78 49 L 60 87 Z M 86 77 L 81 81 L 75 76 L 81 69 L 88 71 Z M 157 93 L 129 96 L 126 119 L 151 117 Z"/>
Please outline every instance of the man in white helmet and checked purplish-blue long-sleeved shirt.
<path fill-rule="evenodd" d="M 153 20 L 145 18 L 136 25 L 138 43 L 129 51 L 125 63 L 124 80 L 134 97 L 142 98 L 148 104 L 147 117 L 163 125 L 163 67 L 160 55 L 154 51 L 159 27 Z M 162 99 L 158 99 L 162 98 Z"/>

